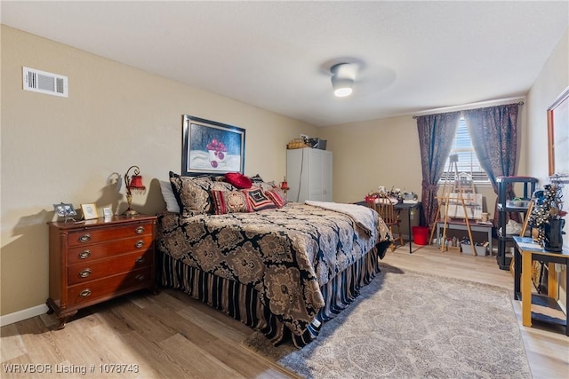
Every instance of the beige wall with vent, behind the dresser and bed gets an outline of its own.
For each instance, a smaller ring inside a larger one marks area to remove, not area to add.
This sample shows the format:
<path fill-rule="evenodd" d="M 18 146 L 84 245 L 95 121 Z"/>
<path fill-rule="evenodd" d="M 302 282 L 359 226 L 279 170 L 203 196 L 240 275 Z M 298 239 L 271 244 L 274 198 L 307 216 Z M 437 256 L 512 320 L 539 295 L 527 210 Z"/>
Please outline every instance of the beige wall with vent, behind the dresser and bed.
<path fill-rule="evenodd" d="M 132 164 L 148 191 L 133 206 L 165 208 L 156 179 L 180 172 L 181 117 L 192 114 L 246 130 L 245 174 L 280 181 L 286 143 L 315 128 L 139 69 L 2 26 L 1 314 L 48 296 L 46 222 L 52 204 L 96 202 L 125 209 L 109 184 Z M 68 99 L 22 90 L 22 66 L 69 80 Z M 188 63 L 191 69 L 191 62 Z"/>

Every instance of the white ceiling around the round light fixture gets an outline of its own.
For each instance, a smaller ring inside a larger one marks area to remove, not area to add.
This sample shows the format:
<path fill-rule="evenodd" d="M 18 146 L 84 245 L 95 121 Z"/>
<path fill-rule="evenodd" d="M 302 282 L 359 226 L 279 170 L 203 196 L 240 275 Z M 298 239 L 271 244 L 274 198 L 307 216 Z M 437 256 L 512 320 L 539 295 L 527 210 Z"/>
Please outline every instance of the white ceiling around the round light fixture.
<path fill-rule="evenodd" d="M 325 126 L 525 95 L 568 28 L 569 2 L 4 0 L 0 16 Z M 341 61 L 361 65 L 344 99 L 333 97 L 329 74 Z"/>

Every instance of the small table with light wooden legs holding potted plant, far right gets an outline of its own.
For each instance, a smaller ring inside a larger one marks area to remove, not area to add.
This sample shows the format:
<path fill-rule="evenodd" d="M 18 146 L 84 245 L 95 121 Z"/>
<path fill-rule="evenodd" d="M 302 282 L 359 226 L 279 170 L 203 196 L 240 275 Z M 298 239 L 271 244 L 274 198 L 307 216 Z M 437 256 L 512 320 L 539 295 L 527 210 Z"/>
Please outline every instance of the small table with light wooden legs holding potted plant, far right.
<path fill-rule="evenodd" d="M 565 265 L 566 282 L 569 283 L 569 249 L 566 247 L 560 253 L 554 253 L 542 249 L 540 245 L 533 242 L 531 237 L 513 237 L 514 249 L 514 296 L 517 300 L 522 300 L 522 324 L 525 327 L 532 326 L 532 318 L 535 320 L 546 321 L 558 325 L 565 326 L 565 336 L 569 336 L 569 313 L 565 313 L 565 320 L 557 319 L 542 315 L 541 313 L 532 313 L 532 302 L 539 303 L 544 306 L 553 306 L 561 310 L 555 299 L 557 297 L 557 280 L 553 267 L 554 263 Z M 538 260 L 549 264 L 548 277 L 548 296 L 534 295 L 532 296 L 532 261 Z M 521 278 L 521 288 L 520 288 Z M 569 304 L 569 292 L 565 291 L 565 304 Z"/>

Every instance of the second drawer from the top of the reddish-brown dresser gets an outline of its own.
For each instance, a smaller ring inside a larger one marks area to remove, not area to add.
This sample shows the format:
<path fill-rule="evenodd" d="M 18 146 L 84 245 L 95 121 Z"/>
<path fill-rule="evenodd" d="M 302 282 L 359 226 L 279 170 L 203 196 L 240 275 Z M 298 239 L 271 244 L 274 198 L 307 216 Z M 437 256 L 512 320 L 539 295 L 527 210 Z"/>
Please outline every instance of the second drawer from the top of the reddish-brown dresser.
<path fill-rule="evenodd" d="M 68 265 L 76 265 L 96 259 L 113 257 L 117 254 L 129 253 L 131 251 L 147 251 L 153 248 L 153 244 L 154 238 L 152 234 L 149 234 L 140 235 L 138 238 L 129 238 L 68 249 Z"/>

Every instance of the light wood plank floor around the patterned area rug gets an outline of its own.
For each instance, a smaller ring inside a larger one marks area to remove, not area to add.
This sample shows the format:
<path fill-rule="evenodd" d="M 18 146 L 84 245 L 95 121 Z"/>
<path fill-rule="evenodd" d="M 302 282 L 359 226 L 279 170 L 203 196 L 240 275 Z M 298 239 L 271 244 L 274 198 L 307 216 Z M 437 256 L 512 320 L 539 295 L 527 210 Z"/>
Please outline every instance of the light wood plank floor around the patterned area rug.
<path fill-rule="evenodd" d="M 403 270 L 493 284 L 510 292 L 513 288 L 511 274 L 498 268 L 495 257 L 441 253 L 430 246 L 413 245 L 413 250 L 409 254 L 405 246 L 389 251 L 384 262 Z M 563 330 L 523 327 L 521 304 L 512 304 L 533 378 L 569 377 L 569 338 Z M 3 327 L 0 376 L 293 377 L 240 345 L 252 333 L 251 328 L 180 291 L 165 289 L 157 296 L 141 291 L 80 311 L 62 330 L 52 330 L 56 325 L 53 315 L 43 314 Z M 6 372 L 10 368 L 29 370 L 26 364 L 36 365 L 36 371 L 51 369 L 52 373 Z M 128 366 L 113 366 L 116 364 Z M 126 372 L 108 373 L 119 367 Z"/>

